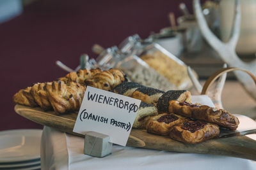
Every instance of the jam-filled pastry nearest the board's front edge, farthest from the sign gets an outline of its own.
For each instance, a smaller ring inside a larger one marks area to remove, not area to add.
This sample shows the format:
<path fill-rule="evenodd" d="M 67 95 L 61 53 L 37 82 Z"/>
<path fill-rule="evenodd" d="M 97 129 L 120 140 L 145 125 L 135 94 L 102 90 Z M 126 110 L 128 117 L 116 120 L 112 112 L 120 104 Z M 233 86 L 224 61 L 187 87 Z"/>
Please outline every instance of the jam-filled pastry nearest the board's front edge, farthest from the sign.
<path fill-rule="evenodd" d="M 200 143 L 215 138 L 219 134 L 218 125 L 200 120 L 189 120 L 183 124 L 174 125 L 170 130 L 170 138 L 184 143 Z"/>

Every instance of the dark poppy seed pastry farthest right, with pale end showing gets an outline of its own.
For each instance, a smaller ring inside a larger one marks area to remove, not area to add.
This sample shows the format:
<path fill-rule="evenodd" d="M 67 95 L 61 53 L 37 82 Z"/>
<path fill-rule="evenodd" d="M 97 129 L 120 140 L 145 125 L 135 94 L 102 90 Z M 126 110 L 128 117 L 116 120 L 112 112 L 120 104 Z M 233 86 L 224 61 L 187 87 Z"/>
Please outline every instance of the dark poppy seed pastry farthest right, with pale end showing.
<path fill-rule="evenodd" d="M 170 101 L 186 101 L 190 103 L 191 92 L 188 90 L 169 90 L 165 92 L 157 101 L 157 110 L 159 112 L 168 112 Z"/>

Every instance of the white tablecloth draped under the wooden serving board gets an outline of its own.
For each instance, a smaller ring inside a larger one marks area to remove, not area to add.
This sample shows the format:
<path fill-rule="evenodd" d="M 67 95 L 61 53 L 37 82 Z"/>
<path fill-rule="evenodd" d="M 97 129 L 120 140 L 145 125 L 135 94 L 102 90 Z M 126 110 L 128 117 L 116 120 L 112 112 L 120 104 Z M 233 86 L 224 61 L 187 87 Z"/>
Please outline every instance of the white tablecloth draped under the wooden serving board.
<path fill-rule="evenodd" d="M 240 116 L 239 120 L 241 122 L 239 130 L 241 131 L 255 127 L 255 122 L 248 117 Z M 255 136 L 256 134 L 248 135 L 250 138 L 255 138 Z M 256 170 L 256 163 L 252 160 L 220 155 L 166 152 L 113 145 L 111 155 L 96 158 L 84 155 L 83 149 L 84 138 L 44 127 L 41 141 L 42 169 Z"/>

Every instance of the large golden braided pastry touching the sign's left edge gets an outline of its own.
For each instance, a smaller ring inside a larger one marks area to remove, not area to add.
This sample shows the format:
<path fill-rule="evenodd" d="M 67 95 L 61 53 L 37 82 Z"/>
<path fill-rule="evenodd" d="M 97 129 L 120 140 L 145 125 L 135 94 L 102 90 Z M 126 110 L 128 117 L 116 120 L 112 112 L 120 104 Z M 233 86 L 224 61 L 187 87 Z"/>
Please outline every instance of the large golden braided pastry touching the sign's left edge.
<path fill-rule="evenodd" d="M 86 87 L 74 81 L 68 84 L 64 81 L 52 81 L 45 85 L 45 89 L 53 110 L 56 113 L 65 113 L 79 110 Z"/>

